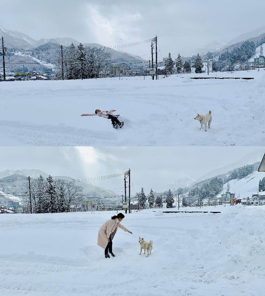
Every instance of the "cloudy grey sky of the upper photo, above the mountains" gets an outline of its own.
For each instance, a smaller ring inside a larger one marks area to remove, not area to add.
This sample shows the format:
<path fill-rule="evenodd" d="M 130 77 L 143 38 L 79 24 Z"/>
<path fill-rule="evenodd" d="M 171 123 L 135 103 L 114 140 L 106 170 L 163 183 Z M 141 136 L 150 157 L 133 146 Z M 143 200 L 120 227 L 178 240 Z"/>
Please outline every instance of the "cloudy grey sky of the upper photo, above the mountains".
<path fill-rule="evenodd" d="M 161 57 L 231 39 L 265 25 L 265 1 L 1 0 L 0 25 L 34 39 L 72 37 L 105 46 L 158 36 Z M 149 54 L 150 44 L 126 48 Z M 148 56 L 144 56 L 148 59 Z M 159 59 L 160 52 L 159 52 Z"/>

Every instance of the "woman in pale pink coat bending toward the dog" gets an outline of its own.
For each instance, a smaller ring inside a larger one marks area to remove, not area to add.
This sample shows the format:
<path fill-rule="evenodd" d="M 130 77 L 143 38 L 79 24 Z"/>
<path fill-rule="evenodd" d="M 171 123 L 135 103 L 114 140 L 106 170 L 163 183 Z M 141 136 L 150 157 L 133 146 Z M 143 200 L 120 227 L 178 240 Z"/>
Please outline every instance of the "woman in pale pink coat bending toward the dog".
<path fill-rule="evenodd" d="M 117 216 L 112 216 L 111 219 L 106 221 L 98 231 L 98 246 L 105 249 L 105 258 L 110 258 L 108 254 L 109 252 L 112 257 L 115 257 L 112 253 L 112 239 L 114 238 L 118 228 L 132 234 L 131 231 L 120 223 L 124 217 L 125 216 L 122 213 L 119 213 Z"/>

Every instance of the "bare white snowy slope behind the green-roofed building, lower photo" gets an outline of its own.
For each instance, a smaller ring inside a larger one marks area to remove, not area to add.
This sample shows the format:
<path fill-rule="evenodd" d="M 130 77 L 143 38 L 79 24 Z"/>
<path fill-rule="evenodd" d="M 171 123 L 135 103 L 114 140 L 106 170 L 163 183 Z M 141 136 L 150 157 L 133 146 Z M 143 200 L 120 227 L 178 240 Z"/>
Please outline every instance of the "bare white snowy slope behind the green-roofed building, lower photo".
<path fill-rule="evenodd" d="M 264 173 L 256 171 L 240 180 L 233 179 L 228 182 L 230 186 L 230 192 L 235 193 L 235 197 L 239 196 L 241 199 L 251 197 L 252 194 L 258 193 L 258 182 L 264 176 Z M 224 184 L 223 190 L 220 192 L 220 194 L 218 194 L 218 196 L 227 191 L 228 183 Z M 265 192 L 263 194 L 265 194 Z"/>

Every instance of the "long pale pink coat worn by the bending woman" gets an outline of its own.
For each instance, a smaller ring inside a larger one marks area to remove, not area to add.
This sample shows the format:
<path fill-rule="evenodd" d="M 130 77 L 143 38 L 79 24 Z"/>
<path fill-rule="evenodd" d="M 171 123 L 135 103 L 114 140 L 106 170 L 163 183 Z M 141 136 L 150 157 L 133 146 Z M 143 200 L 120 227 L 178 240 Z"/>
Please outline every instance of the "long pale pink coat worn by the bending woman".
<path fill-rule="evenodd" d="M 128 231 L 126 227 L 124 227 L 118 220 L 116 219 L 109 219 L 106 221 L 99 229 L 98 231 L 98 246 L 100 246 L 103 249 L 106 249 L 106 246 L 108 244 L 108 238 L 110 234 L 118 227 L 121 228 L 124 231 Z"/>

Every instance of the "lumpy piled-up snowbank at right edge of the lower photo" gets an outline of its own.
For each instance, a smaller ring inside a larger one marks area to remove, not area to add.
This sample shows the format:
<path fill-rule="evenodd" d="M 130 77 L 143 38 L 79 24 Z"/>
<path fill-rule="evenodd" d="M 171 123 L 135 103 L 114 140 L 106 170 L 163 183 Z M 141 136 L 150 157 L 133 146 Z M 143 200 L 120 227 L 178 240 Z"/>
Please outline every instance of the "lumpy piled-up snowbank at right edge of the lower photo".
<path fill-rule="evenodd" d="M 208 262 L 216 261 L 216 270 L 225 278 L 265 277 L 264 218 L 265 207 L 236 205 L 215 221 L 216 241 Z"/>

